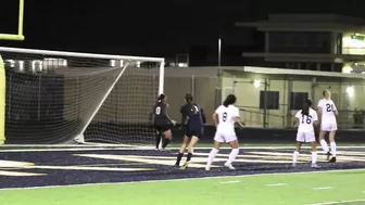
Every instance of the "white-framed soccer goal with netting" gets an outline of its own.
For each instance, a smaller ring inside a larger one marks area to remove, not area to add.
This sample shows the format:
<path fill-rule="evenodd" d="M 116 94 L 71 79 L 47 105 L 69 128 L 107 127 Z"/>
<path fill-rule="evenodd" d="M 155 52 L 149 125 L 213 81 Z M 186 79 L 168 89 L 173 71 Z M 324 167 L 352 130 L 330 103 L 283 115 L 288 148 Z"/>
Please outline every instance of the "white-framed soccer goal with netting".
<path fill-rule="evenodd" d="M 163 92 L 164 59 L 3 47 L 0 54 L 5 143 L 154 141 L 151 110 Z"/>

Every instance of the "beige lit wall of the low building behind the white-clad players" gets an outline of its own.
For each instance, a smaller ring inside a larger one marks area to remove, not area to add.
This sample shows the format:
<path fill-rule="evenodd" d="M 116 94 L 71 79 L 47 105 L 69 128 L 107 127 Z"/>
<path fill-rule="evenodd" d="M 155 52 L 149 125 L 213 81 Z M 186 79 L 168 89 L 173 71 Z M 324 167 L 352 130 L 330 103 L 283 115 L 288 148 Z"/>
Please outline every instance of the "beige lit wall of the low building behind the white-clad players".
<path fill-rule="evenodd" d="M 222 94 L 226 97 L 229 92 L 238 97 L 237 106 L 241 107 L 241 117 L 251 127 L 263 127 L 264 111 L 260 108 L 260 91 L 264 85 L 254 87 L 253 81 L 260 79 L 262 82 L 268 80 L 269 91 L 279 91 L 279 108 L 267 111 L 267 127 L 280 128 L 290 126 L 292 116 L 298 111 L 289 110 L 290 92 L 307 92 L 313 100 L 314 107 L 317 106 L 322 92 L 329 89 L 332 100 L 340 111 L 339 124 L 341 127 L 351 126 L 354 110 L 365 110 L 365 81 L 345 78 L 319 78 L 313 82 L 313 77 L 305 76 L 268 76 L 240 72 L 225 72 L 223 77 Z M 237 81 L 234 84 L 234 81 Z M 349 86 L 354 89 L 353 95 L 347 92 Z"/>

